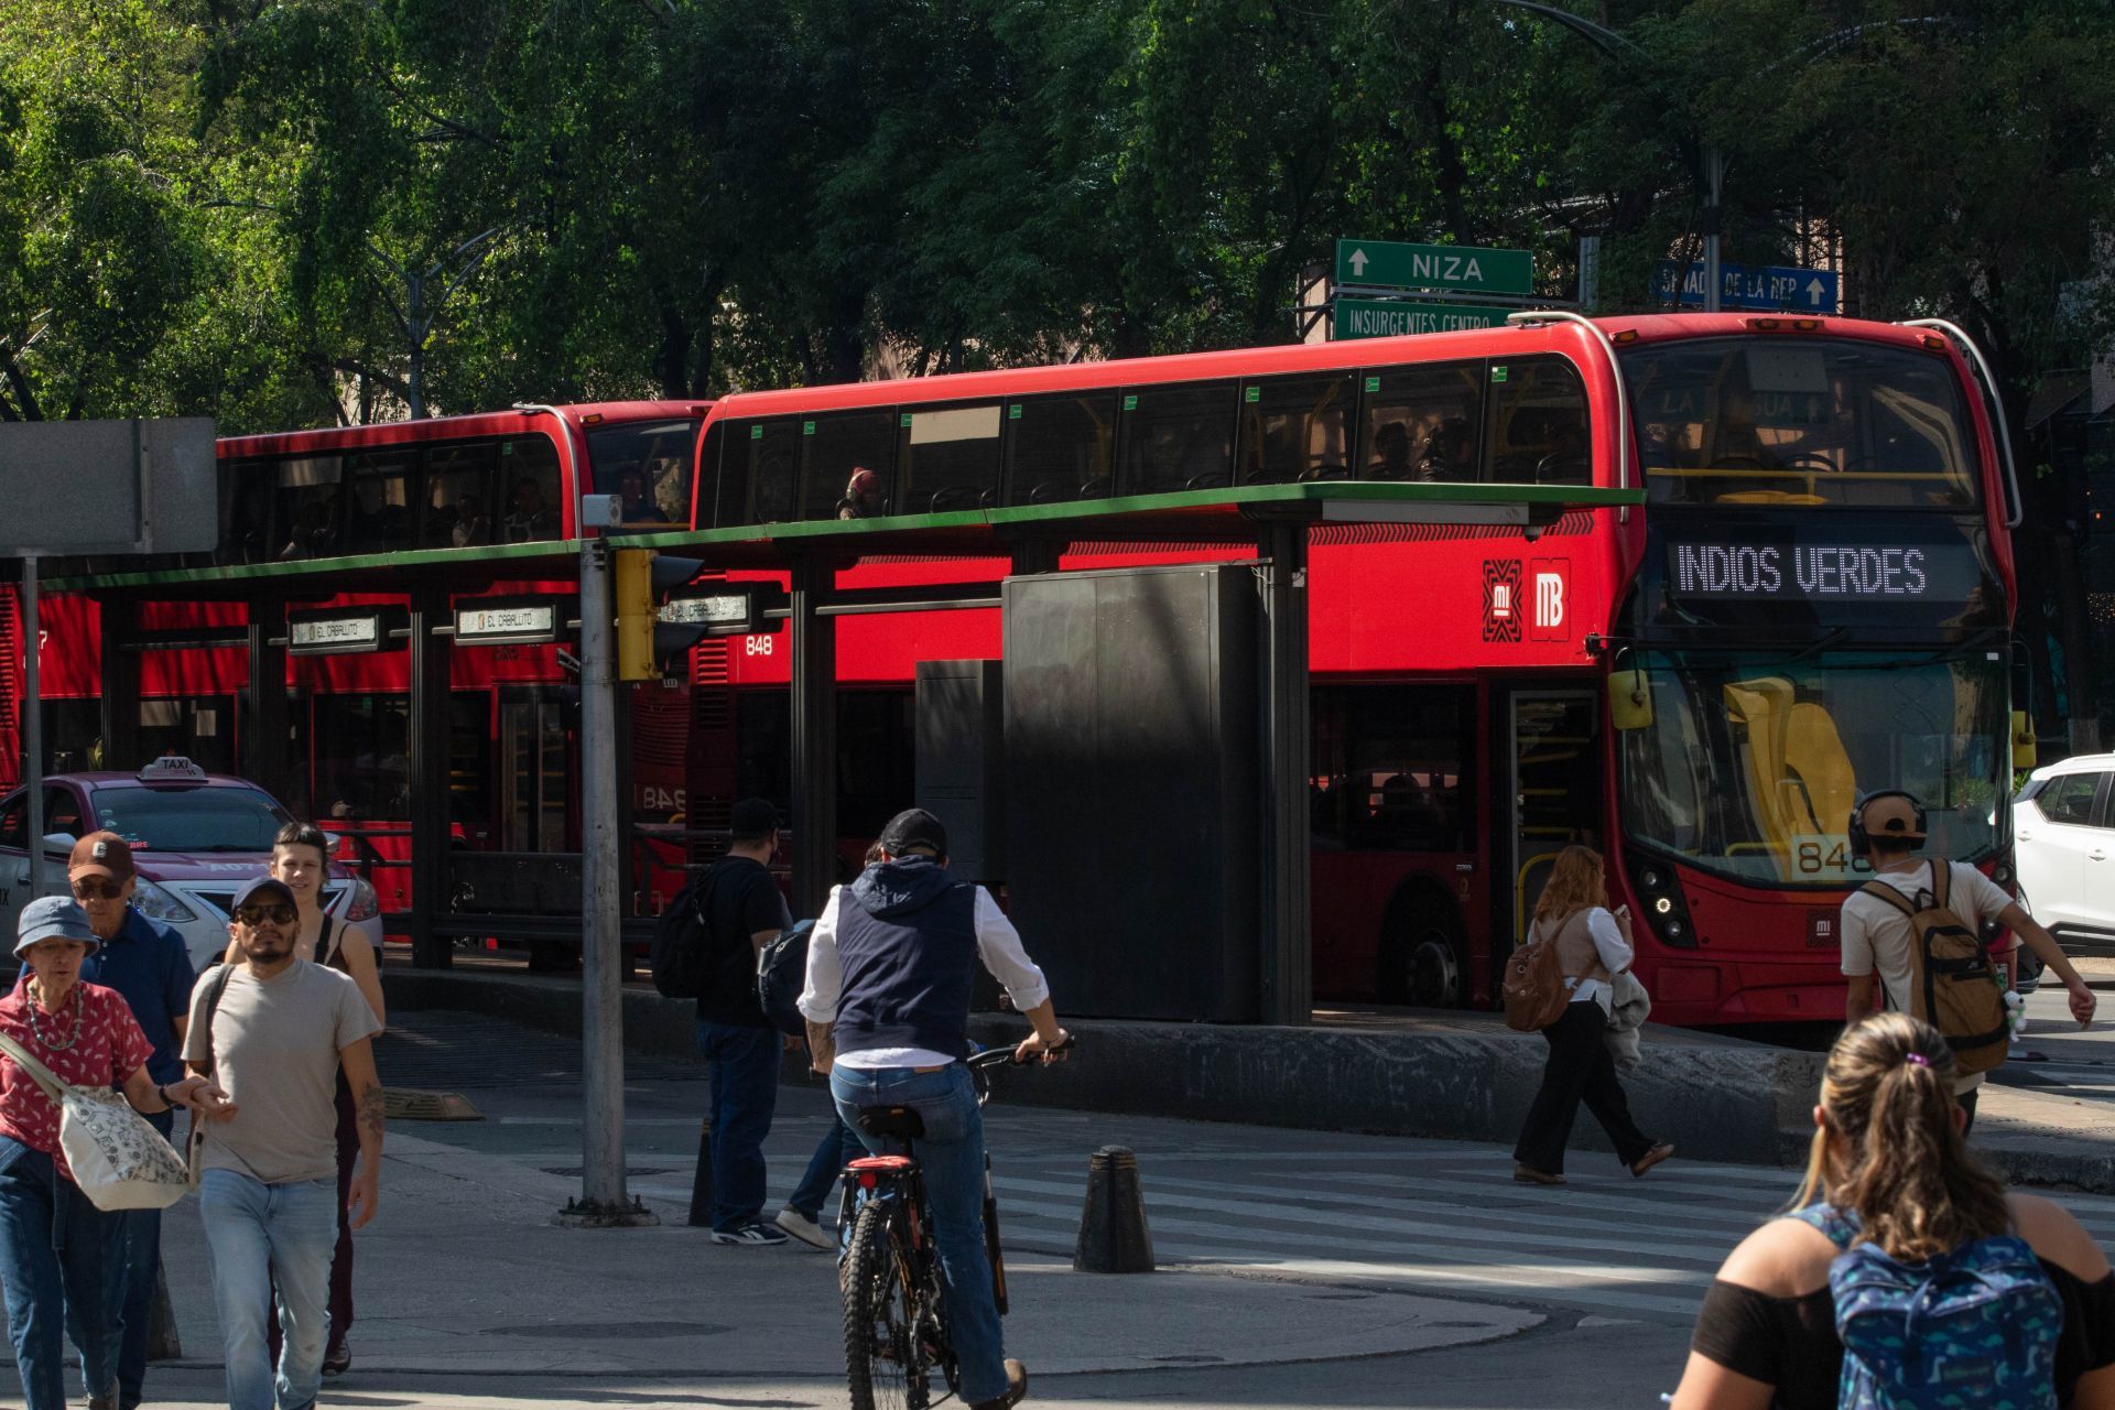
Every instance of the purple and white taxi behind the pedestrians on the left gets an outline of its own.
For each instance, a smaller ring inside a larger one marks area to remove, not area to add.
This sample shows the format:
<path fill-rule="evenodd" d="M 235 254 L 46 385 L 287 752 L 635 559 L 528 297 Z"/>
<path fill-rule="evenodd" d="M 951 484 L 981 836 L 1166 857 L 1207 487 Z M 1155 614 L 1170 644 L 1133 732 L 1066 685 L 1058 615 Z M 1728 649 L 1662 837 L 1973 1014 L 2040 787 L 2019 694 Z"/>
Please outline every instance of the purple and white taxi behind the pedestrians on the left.
<path fill-rule="evenodd" d="M 44 778 L 44 892 L 66 892 L 76 839 L 110 829 L 133 846 L 133 907 L 184 936 L 192 968 L 205 968 L 228 947 L 235 892 L 264 873 L 271 839 L 288 822 L 273 795 L 190 759 L 157 759 L 137 774 L 53 774 Z M 30 795 L 15 789 L 0 799 L 0 926 L 8 936 L 27 903 Z M 332 862 L 324 909 L 383 953 L 381 903 L 347 867 Z"/>

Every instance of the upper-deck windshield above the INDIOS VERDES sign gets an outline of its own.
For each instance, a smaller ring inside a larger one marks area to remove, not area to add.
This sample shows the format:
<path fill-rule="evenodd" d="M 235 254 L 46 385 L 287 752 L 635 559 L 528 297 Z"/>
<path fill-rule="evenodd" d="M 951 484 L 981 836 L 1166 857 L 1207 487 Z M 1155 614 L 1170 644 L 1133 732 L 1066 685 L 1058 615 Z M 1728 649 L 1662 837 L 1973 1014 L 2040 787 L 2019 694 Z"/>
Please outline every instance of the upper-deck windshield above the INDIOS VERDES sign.
<path fill-rule="evenodd" d="M 1952 364 L 1849 338 L 1696 338 L 1622 355 L 1650 503 L 1971 509 Z"/>

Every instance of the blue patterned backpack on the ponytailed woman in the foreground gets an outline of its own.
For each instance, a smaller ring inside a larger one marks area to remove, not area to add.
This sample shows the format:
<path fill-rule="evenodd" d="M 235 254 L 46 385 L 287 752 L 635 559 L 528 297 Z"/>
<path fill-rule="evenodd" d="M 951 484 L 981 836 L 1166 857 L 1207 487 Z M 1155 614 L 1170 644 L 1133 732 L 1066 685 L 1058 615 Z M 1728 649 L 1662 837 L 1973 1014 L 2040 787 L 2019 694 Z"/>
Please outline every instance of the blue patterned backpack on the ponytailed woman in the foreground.
<path fill-rule="evenodd" d="M 2064 1304 L 2013 1235 L 1906 1264 L 1855 1243 L 1857 1216 L 1806 1205 L 1791 1218 L 1842 1249 L 1829 1264 L 1844 1374 L 1840 1410 L 2056 1410 Z"/>

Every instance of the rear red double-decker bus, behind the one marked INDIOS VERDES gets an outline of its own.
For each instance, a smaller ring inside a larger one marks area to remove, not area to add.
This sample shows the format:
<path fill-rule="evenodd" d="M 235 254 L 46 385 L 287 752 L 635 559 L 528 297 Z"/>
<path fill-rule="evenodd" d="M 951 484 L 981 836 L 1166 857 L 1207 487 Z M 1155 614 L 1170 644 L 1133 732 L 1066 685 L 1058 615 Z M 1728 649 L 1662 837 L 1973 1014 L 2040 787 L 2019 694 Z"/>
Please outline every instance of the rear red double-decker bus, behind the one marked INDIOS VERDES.
<path fill-rule="evenodd" d="M 49 592 L 42 698 L 47 769 L 140 767 L 180 753 L 212 772 L 273 763 L 271 784 L 298 816 L 341 835 L 338 858 L 374 884 L 391 924 L 410 905 L 408 653 L 402 641 L 374 649 L 286 662 L 283 750 L 247 740 L 254 607 L 205 592 L 199 569 L 283 575 L 245 583 L 279 596 L 296 619 L 372 607 L 400 611 L 404 596 L 372 590 L 372 564 L 463 564 L 463 590 L 565 600 L 569 581 L 510 577 L 491 560 L 533 554 L 577 535 L 580 497 L 618 495 L 628 528 L 681 528 L 689 518 L 696 438 L 706 404 L 609 402 L 520 406 L 366 427 L 222 440 L 220 548 L 154 560 L 47 562 L 47 575 L 137 573 L 125 651 L 137 655 L 135 717 L 121 729 L 104 708 L 104 600 Z M 360 592 L 334 586 L 341 569 L 370 569 Z M 157 575 L 167 581 L 154 586 Z M 0 769 L 13 784 L 21 740 L 21 619 L 13 590 L 0 596 Z M 281 641 L 281 645 L 286 645 Z M 465 647 L 448 662 L 448 759 L 434 782 L 448 791 L 455 839 L 495 852 L 577 850 L 577 685 L 554 643 Z M 641 695 L 632 717 L 637 803 L 643 816 L 683 822 L 683 729 L 668 702 Z M 118 708 L 131 710 L 129 702 Z M 116 736 L 114 742 L 108 736 Z M 127 757 L 116 757 L 118 753 Z"/>

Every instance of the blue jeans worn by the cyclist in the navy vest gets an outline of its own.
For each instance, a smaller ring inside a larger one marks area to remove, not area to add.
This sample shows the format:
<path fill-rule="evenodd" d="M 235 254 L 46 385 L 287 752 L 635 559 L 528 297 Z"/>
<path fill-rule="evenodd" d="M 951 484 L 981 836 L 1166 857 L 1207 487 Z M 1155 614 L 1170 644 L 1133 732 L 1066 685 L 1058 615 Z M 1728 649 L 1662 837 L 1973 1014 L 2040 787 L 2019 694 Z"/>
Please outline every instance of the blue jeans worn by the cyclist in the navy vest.
<path fill-rule="evenodd" d="M 924 1118 L 924 1137 L 912 1144 L 933 1205 L 933 1241 L 948 1283 L 948 1336 L 962 1370 L 962 1404 L 1007 1393 L 1007 1344 L 992 1296 L 992 1264 L 983 1254 L 983 1112 L 969 1068 L 939 1072 L 912 1068 L 846 1068 L 829 1072 L 829 1095 L 846 1125 L 863 1106 L 907 1106 Z M 857 1131 L 857 1127 L 854 1127 Z M 886 1142 L 859 1133 L 867 1150 L 886 1154 Z"/>

